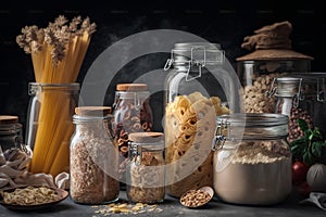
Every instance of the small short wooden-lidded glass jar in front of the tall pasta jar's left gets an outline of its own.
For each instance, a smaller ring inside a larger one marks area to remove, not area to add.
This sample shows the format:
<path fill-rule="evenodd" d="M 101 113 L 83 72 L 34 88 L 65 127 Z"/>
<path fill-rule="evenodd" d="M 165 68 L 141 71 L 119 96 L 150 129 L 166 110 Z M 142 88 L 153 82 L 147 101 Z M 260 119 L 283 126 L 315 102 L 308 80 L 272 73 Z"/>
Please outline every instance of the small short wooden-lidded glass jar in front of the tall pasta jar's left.
<path fill-rule="evenodd" d="M 129 135 L 127 197 L 133 203 L 159 203 L 165 195 L 164 140 L 161 132 Z"/>

